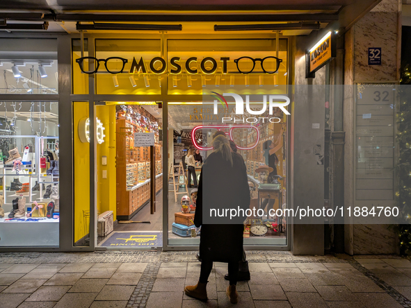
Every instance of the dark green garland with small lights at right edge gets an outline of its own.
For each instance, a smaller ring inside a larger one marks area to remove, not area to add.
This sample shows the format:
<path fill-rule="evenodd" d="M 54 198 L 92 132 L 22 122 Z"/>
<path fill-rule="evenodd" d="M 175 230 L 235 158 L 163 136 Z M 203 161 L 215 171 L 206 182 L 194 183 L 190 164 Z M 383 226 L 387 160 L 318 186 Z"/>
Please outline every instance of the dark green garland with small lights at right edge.
<path fill-rule="evenodd" d="M 404 217 L 411 218 L 411 67 L 405 65 L 401 70 L 400 106 L 397 114 L 399 161 L 396 166 L 398 189 L 396 206 Z M 411 225 L 395 226 L 399 237 L 400 254 L 411 256 Z"/>

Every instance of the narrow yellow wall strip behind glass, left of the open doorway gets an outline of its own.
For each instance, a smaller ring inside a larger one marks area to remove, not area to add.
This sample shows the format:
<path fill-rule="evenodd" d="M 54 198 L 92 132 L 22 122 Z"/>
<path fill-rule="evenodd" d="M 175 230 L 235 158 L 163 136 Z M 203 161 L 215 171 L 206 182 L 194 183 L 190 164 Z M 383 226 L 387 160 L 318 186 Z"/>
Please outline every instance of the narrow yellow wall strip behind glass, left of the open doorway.
<path fill-rule="evenodd" d="M 73 103 L 74 141 L 74 242 L 88 234 L 89 219 L 83 210 L 90 210 L 90 148 L 79 139 L 79 121 L 88 117 L 88 103 Z"/>

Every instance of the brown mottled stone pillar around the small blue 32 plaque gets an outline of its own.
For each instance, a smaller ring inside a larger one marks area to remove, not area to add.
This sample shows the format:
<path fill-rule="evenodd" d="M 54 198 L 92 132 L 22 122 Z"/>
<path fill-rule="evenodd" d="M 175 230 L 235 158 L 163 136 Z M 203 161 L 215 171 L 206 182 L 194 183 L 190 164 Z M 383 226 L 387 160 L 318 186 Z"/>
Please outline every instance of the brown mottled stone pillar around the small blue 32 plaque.
<path fill-rule="evenodd" d="M 353 206 L 355 83 L 392 83 L 399 79 L 401 50 L 400 0 L 383 0 L 345 34 L 344 59 L 344 206 Z M 399 26 L 398 26 L 399 25 Z M 368 49 L 381 47 L 381 65 L 368 65 Z M 353 85 L 353 86 L 350 86 Z M 396 236 L 388 225 L 350 225 L 345 250 L 350 255 L 396 253 Z"/>

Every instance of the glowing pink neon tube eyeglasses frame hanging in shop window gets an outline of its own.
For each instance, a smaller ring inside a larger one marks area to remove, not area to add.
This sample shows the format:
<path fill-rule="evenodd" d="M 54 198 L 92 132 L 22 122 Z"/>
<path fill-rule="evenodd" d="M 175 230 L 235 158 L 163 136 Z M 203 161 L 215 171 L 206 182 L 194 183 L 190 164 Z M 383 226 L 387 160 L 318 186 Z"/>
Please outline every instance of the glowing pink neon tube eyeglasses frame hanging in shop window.
<path fill-rule="evenodd" d="M 208 126 L 196 126 L 195 128 L 193 128 L 193 130 L 191 130 L 191 140 L 193 141 L 193 144 L 195 146 L 195 148 L 198 148 L 199 150 L 203 150 L 203 151 L 209 151 L 212 150 L 213 147 L 208 147 L 208 146 L 203 146 L 202 144 L 198 144 L 198 141 L 195 139 L 195 132 L 198 130 L 208 130 L 211 135 L 213 135 L 214 132 L 217 132 L 218 130 L 223 131 L 223 130 L 228 130 L 228 132 L 224 132 L 225 136 L 232 140 L 232 142 L 235 143 L 234 140 L 234 135 L 236 135 L 236 133 L 241 133 L 243 129 L 248 129 L 248 130 L 255 130 L 255 138 L 252 139 L 252 142 L 250 142 L 250 144 L 248 144 L 248 146 L 243 147 L 243 146 L 239 146 L 238 144 L 236 144 L 236 147 L 239 150 L 251 150 L 252 148 L 255 148 L 259 142 L 259 130 L 258 128 L 256 128 L 255 126 L 250 126 L 250 125 L 233 125 L 233 126 L 220 126 L 220 125 L 208 125 Z M 252 135 L 252 132 L 248 132 L 246 134 L 246 137 L 249 137 L 250 135 Z"/>

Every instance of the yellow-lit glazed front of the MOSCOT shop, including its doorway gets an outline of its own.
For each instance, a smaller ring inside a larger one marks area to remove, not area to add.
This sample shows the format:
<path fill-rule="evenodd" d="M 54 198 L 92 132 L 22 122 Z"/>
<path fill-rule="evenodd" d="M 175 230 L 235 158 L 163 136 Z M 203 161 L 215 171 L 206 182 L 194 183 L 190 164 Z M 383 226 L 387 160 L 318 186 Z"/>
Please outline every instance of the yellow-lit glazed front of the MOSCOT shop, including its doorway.
<path fill-rule="evenodd" d="M 89 117 L 89 103 L 73 104 L 73 127 L 79 131 L 74 134 L 75 245 L 90 244 L 90 207 L 82 200 L 92 200 L 88 180 L 94 163 L 97 247 L 197 246 L 201 230 L 194 227 L 193 217 L 198 180 L 201 166 L 212 152 L 212 135 L 218 130 L 225 132 L 243 157 L 250 207 L 262 207 L 260 203 L 267 210 L 286 206 L 287 121 L 220 128 L 218 121 L 212 121 L 210 106 L 204 108 L 198 98 L 209 87 L 217 91 L 236 87 L 241 95 L 257 95 L 264 94 L 263 86 L 269 85 L 272 94 L 287 94 L 287 39 L 95 37 L 92 57 L 86 49 L 81 55 L 81 41 L 74 41 L 74 93 L 86 93 L 88 78 L 94 74 L 95 94 L 100 99 L 95 103 L 94 120 Z M 84 40 L 83 44 L 88 43 Z M 112 101 L 113 94 L 119 94 L 118 101 Z M 128 94 L 135 95 L 136 101 Z M 108 99 L 104 95 L 109 95 Z M 127 101 L 121 101 L 121 95 L 127 96 Z M 155 99 L 150 100 L 150 95 Z M 144 100 L 139 101 L 139 96 Z M 165 119 L 168 127 L 163 128 Z M 93 124 L 94 160 L 86 134 Z M 271 144 L 277 157 L 270 160 L 277 169 L 276 195 L 260 198 L 259 185 L 264 181 L 258 169 L 268 164 Z M 186 161 L 192 150 L 193 169 Z M 258 217 L 251 219 L 254 223 L 244 225 L 247 245 L 287 246 L 286 219 L 271 217 L 262 223 Z M 255 228 L 257 224 L 263 227 Z M 262 234 L 259 229 L 264 227 L 267 230 Z"/>

